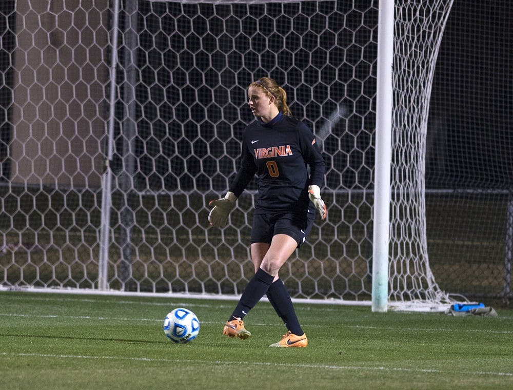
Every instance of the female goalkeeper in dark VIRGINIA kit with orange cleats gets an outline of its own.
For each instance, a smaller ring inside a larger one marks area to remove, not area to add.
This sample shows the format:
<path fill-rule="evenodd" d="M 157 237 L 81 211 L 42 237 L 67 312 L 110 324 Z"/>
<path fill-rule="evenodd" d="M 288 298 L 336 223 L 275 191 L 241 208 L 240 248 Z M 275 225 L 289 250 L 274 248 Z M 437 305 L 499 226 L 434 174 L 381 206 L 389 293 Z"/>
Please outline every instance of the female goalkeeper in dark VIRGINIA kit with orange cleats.
<path fill-rule="evenodd" d="M 320 194 L 325 165 L 313 133 L 292 118 L 287 94 L 274 80 L 262 77 L 251 83 L 248 104 L 256 120 L 243 133 L 241 166 L 226 196 L 209 204 L 213 207 L 208 216 L 210 225 L 226 226 L 237 198 L 257 175 L 259 197 L 251 230 L 255 275 L 226 322 L 223 334 L 243 340 L 250 337 L 243 319 L 267 295 L 287 327 L 282 339 L 270 346 L 306 347 L 306 335 L 278 273 L 306 240 L 315 210 L 322 219 L 326 218 Z"/>

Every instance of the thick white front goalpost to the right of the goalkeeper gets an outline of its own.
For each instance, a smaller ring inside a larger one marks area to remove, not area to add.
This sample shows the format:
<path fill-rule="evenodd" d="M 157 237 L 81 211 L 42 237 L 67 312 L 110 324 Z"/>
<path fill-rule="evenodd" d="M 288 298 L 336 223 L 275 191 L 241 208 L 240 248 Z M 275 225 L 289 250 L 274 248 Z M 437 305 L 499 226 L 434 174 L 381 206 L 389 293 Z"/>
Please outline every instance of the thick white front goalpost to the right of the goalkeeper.
<path fill-rule="evenodd" d="M 390 167 L 392 159 L 392 59 L 394 2 L 380 0 L 374 229 L 372 248 L 372 311 L 388 309 L 388 245 L 390 236 Z"/>

